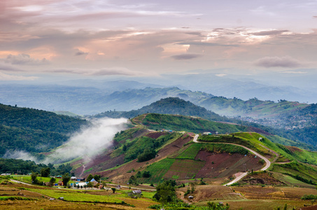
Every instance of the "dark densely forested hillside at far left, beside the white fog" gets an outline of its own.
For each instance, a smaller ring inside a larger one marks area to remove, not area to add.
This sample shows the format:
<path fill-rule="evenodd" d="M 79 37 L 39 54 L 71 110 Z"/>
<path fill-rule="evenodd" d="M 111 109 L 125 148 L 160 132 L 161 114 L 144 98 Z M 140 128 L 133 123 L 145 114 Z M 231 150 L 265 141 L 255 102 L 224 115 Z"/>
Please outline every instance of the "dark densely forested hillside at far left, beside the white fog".
<path fill-rule="evenodd" d="M 46 152 L 62 145 L 87 120 L 0 104 L 0 156 L 6 151 Z"/>

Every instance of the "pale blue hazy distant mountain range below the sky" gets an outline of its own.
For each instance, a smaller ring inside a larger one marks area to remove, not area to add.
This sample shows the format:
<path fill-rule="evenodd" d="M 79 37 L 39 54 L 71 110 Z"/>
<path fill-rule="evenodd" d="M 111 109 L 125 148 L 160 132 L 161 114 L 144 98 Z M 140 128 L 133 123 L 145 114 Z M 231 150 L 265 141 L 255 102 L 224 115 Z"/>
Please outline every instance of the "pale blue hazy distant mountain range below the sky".
<path fill-rule="evenodd" d="M 301 75 L 302 76 L 302 75 Z M 272 78 L 272 77 L 271 77 Z M 189 73 L 187 75 L 162 75 L 134 80 L 58 80 L 44 83 L 1 82 L 0 102 L 46 111 L 70 111 L 91 115 L 109 110 L 130 111 L 140 109 L 166 97 L 180 97 L 206 109 L 216 108 L 202 104 L 202 99 L 213 96 L 265 101 L 317 102 L 314 85 L 274 85 L 274 79 L 255 80 L 247 76 L 225 76 L 216 73 Z M 294 77 L 290 79 L 295 80 Z M 293 83 L 297 85 L 297 83 Z M 302 85 L 302 84 L 301 84 Z M 212 111 L 213 110 L 211 109 Z M 227 110 L 228 111 L 228 110 Z M 226 112 L 227 113 L 227 112 Z M 229 112 L 230 113 L 230 112 Z M 223 113 L 220 113 L 223 114 Z"/>

